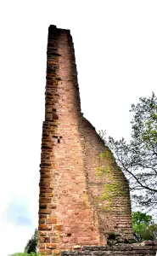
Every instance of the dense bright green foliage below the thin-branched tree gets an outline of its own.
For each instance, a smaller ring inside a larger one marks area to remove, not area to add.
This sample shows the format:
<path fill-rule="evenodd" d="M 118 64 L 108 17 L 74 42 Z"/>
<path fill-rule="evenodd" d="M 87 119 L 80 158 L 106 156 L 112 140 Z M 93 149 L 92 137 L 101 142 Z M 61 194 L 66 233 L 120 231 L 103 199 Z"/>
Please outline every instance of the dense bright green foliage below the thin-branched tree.
<path fill-rule="evenodd" d="M 154 240 L 157 238 L 157 224 L 151 215 L 143 212 L 132 212 L 134 237 L 137 241 Z"/>

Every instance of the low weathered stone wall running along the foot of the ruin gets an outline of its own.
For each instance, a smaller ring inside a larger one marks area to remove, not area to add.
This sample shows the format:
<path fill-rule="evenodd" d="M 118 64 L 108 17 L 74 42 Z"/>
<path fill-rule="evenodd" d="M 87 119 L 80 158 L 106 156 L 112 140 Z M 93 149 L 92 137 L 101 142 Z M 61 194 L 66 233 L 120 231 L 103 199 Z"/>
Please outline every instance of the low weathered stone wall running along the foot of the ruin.
<path fill-rule="evenodd" d="M 144 245 L 119 245 L 114 247 L 82 247 L 81 251 L 62 252 L 62 256 L 155 256 L 157 241 L 146 241 Z"/>

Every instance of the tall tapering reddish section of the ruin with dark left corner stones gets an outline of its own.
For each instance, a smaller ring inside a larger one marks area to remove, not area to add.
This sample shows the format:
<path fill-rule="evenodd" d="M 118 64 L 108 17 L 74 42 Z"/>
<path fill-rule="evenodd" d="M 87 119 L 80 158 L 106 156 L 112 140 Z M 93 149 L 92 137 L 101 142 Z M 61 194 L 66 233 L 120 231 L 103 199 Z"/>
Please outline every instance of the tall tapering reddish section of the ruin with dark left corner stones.
<path fill-rule="evenodd" d="M 73 44 L 69 32 L 50 29 L 39 210 L 39 247 L 48 254 L 99 241 L 78 131 L 81 108 Z"/>

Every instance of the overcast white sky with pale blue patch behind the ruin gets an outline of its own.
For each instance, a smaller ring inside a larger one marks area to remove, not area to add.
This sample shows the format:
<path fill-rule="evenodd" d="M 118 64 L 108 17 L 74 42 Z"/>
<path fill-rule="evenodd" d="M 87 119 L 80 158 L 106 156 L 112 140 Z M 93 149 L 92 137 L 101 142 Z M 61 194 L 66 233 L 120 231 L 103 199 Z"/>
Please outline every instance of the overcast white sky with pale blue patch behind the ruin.
<path fill-rule="evenodd" d="M 157 1 L 0 3 L 1 255 L 23 252 L 38 222 L 48 26 L 70 29 L 84 116 L 130 136 L 132 103 L 157 95 Z"/>

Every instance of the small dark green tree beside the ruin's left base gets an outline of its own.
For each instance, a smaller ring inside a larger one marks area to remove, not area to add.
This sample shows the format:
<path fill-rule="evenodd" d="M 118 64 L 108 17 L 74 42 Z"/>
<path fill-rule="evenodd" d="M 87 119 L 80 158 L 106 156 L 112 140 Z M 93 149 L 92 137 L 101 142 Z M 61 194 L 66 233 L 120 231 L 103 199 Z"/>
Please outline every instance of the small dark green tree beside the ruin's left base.
<path fill-rule="evenodd" d="M 38 230 L 36 229 L 34 235 L 27 242 L 25 246 L 25 253 L 36 253 L 38 243 Z"/>

